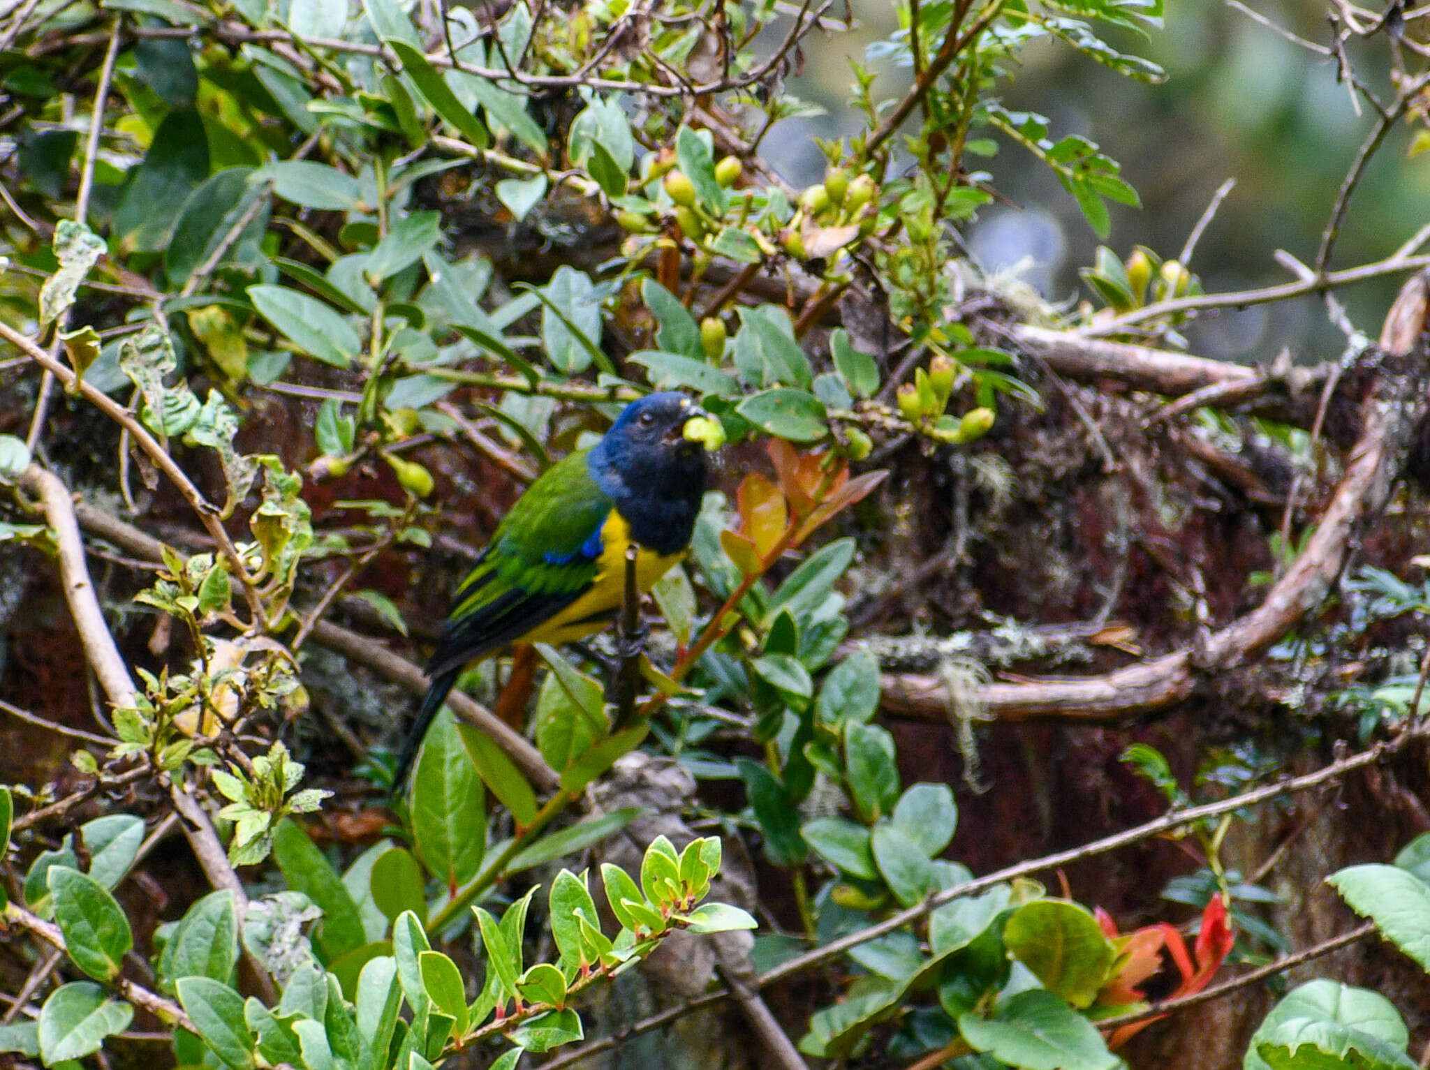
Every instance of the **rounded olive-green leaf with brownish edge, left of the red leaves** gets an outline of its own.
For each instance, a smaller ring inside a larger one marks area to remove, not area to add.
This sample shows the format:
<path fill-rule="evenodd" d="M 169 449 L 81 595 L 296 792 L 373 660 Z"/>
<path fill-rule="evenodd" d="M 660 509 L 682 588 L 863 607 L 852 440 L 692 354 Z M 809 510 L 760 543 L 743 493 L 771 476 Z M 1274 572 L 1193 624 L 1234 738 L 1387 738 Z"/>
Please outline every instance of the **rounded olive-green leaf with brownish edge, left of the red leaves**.
<path fill-rule="evenodd" d="M 1088 1007 L 1117 957 L 1091 911 L 1061 899 L 1025 903 L 1002 930 L 1008 954 L 1074 1007 Z"/>

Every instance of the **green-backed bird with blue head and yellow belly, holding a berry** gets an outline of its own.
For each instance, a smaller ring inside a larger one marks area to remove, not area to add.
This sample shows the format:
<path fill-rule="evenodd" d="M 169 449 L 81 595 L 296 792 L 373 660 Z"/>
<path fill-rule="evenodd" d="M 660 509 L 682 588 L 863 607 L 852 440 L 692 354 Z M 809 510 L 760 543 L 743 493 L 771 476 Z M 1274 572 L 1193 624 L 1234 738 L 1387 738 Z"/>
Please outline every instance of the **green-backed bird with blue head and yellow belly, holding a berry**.
<path fill-rule="evenodd" d="M 685 556 L 708 480 L 706 444 L 686 437 L 696 419 L 711 423 L 685 394 L 646 394 L 599 443 L 551 466 L 516 500 L 452 596 L 393 791 L 468 664 L 521 643 L 579 641 L 615 620 L 632 541 L 642 591 Z"/>

